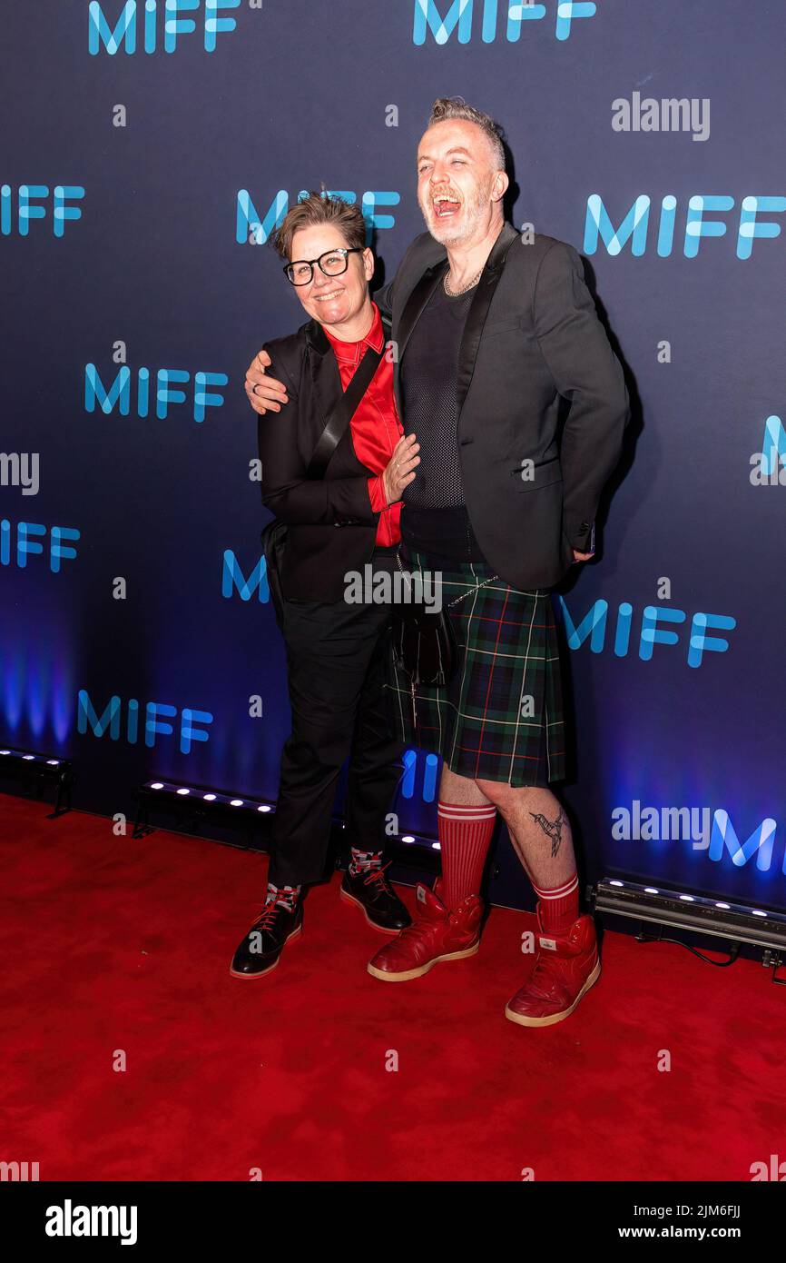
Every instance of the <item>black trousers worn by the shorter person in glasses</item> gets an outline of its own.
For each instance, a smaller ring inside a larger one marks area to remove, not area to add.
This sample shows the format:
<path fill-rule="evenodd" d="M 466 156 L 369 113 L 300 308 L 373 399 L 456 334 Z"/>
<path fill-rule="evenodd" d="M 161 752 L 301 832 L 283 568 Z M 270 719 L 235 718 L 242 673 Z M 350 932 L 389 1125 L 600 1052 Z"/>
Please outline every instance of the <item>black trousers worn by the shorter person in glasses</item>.
<path fill-rule="evenodd" d="M 375 549 L 372 565 L 392 571 L 395 549 Z M 324 874 L 347 758 L 347 847 L 384 849 L 404 746 L 384 688 L 390 605 L 285 601 L 283 633 L 293 726 L 281 754 L 269 880 L 298 885 Z"/>

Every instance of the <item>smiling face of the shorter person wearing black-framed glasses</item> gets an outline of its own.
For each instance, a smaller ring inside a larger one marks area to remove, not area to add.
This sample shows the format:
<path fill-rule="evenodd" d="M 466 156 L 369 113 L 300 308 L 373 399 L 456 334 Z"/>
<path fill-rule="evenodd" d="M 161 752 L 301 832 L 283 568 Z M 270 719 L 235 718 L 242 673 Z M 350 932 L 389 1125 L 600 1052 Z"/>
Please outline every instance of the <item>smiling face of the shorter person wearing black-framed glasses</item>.
<path fill-rule="evenodd" d="M 318 259 L 328 250 L 347 249 L 334 225 L 315 224 L 299 229 L 291 239 L 290 263 L 298 259 Z M 326 277 L 314 264 L 314 275 L 308 285 L 294 285 L 294 290 L 309 316 L 320 325 L 343 325 L 353 320 L 368 297 L 368 282 L 373 275 L 373 254 L 368 248 L 362 254 L 347 258 L 347 270 L 339 277 Z"/>

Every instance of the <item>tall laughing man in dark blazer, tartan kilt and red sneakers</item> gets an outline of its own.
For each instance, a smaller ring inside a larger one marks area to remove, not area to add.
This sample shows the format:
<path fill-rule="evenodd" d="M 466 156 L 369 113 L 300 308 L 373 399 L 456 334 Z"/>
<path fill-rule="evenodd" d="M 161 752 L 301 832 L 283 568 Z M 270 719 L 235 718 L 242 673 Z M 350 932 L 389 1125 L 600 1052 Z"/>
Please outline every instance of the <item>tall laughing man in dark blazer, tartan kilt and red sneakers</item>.
<path fill-rule="evenodd" d="M 404 733 L 444 760 L 443 875 L 418 916 L 370 962 L 406 981 L 479 945 L 479 885 L 497 810 L 537 894 L 537 956 L 505 1013 L 566 1018 L 599 976 L 594 925 L 579 913 L 570 823 L 549 788 L 564 777 L 559 658 L 548 590 L 594 552 L 594 518 L 616 466 L 628 395 L 573 246 L 505 222 L 498 126 L 460 99 L 434 104 L 418 150 L 428 232 L 377 296 L 392 317 L 396 399 L 420 462 L 402 493 L 402 541 L 439 567 L 455 605 L 460 664 L 413 698 L 396 682 Z M 252 407 L 280 383 L 257 356 Z M 566 417 L 561 416 L 569 403 Z M 453 616 L 453 615 L 452 615 Z"/>

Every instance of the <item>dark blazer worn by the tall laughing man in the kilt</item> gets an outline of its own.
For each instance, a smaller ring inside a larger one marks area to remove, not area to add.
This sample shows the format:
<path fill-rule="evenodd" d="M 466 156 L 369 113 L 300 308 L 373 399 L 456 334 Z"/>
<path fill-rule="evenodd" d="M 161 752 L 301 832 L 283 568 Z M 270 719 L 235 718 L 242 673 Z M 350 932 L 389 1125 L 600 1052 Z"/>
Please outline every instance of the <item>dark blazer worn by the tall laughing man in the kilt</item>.
<path fill-rule="evenodd" d="M 556 584 L 574 548 L 589 552 L 630 402 L 578 253 L 541 234 L 531 245 L 517 237 L 505 224 L 467 316 L 458 436 L 467 510 L 481 549 L 502 578 L 526 590 Z M 382 316 L 392 318 L 405 429 L 400 368 L 445 260 L 444 246 L 423 232 L 375 294 Z M 560 398 L 570 403 L 561 434 Z M 524 461 L 534 462 L 531 480 L 521 476 Z"/>

